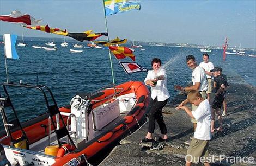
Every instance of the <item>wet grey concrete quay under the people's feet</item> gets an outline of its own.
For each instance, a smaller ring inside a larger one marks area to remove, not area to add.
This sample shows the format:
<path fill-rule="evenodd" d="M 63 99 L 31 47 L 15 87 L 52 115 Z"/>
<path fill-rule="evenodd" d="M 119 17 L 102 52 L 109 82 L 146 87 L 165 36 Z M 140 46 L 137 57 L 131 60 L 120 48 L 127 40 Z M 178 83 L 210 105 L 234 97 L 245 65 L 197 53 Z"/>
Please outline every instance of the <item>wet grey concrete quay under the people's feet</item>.
<path fill-rule="evenodd" d="M 214 132 L 209 142 L 210 156 L 215 159 L 212 165 L 256 165 L 255 92 L 255 87 L 247 84 L 230 84 L 223 132 Z M 120 141 L 100 165 L 185 165 L 188 145 L 184 142 L 193 136 L 192 123 L 184 110 L 175 110 L 185 98 L 186 95 L 178 95 L 163 109 L 169 136 L 167 143 L 140 143 L 148 131 L 148 123 L 145 123 Z M 160 136 L 156 125 L 154 137 Z M 225 157 L 222 161 L 219 161 L 220 155 Z M 243 159 L 241 162 L 239 157 Z M 248 162 L 248 157 L 253 162 Z"/>

